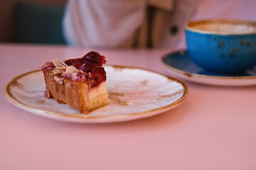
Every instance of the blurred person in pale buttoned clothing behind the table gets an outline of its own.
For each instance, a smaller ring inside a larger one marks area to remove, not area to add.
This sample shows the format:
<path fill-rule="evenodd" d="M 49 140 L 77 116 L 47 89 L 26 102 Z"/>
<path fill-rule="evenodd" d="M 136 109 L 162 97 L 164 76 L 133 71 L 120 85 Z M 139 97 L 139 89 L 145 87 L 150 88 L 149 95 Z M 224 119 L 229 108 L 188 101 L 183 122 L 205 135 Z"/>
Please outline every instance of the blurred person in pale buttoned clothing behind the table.
<path fill-rule="evenodd" d="M 189 21 L 256 21 L 255 6 L 255 0 L 69 0 L 63 34 L 81 47 L 184 49 Z"/>

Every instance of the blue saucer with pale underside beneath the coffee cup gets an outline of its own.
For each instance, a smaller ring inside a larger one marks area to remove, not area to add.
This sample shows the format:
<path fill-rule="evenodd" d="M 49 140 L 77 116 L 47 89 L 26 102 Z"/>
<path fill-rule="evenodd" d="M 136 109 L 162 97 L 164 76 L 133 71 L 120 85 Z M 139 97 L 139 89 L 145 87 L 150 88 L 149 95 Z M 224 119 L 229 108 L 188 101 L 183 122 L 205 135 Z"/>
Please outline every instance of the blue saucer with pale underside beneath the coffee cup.
<path fill-rule="evenodd" d="M 161 62 L 168 72 L 188 81 L 218 86 L 250 86 L 256 84 L 256 66 L 239 74 L 207 72 L 193 63 L 186 51 L 165 55 Z"/>

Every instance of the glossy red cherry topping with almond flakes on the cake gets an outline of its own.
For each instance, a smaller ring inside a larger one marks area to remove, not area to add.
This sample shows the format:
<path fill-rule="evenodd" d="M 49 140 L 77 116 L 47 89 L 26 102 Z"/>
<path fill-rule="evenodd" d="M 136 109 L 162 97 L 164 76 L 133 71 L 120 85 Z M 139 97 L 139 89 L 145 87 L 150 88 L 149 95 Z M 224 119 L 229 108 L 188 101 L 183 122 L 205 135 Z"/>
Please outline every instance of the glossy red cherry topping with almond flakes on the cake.
<path fill-rule="evenodd" d="M 62 84 L 63 78 L 67 77 L 72 81 L 93 81 L 94 86 L 98 86 L 102 81 L 106 81 L 106 72 L 102 64 L 106 63 L 106 58 L 98 52 L 88 52 L 84 57 L 65 60 L 53 60 L 46 62 L 42 70 L 53 69 L 55 79 Z"/>

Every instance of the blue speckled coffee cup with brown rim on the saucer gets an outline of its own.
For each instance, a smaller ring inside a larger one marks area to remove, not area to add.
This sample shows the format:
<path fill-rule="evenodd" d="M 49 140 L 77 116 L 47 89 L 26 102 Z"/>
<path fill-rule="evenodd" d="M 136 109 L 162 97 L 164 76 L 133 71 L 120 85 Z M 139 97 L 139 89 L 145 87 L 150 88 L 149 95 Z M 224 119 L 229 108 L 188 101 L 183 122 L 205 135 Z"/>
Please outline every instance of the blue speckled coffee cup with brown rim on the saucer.
<path fill-rule="evenodd" d="M 186 25 L 186 45 L 191 60 L 203 69 L 242 72 L 256 64 L 256 23 L 194 21 Z"/>

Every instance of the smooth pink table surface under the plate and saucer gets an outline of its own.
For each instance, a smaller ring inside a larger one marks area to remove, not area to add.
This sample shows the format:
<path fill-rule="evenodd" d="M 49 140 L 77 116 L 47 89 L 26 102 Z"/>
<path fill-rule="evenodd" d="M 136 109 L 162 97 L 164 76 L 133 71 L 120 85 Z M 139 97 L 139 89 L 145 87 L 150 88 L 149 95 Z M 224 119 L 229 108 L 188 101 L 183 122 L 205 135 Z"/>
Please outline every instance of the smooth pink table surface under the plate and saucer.
<path fill-rule="evenodd" d="M 54 58 L 92 49 L 0 45 L 0 169 L 256 169 L 256 86 L 188 81 L 178 107 L 124 123 L 65 123 L 23 111 L 4 96 L 6 84 Z M 169 50 L 100 50 L 108 64 L 169 74 Z M 169 74 L 171 76 L 171 74 Z"/>

